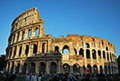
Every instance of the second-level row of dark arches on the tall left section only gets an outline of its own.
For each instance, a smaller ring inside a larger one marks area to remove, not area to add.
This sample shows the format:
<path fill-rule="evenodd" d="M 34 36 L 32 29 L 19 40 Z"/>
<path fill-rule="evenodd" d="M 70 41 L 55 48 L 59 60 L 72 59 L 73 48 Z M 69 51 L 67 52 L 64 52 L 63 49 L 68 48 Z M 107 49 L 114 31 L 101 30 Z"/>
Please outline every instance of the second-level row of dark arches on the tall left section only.
<path fill-rule="evenodd" d="M 30 47 L 32 46 L 32 48 Z M 46 53 L 47 51 L 47 43 L 42 43 L 41 47 L 42 47 L 42 53 Z M 18 56 L 21 56 L 22 53 L 24 53 L 26 56 L 28 56 L 30 50 L 32 50 L 32 53 L 33 54 L 37 54 L 38 53 L 38 43 L 34 43 L 34 44 L 26 44 L 26 45 L 19 45 L 19 46 L 14 46 L 14 47 L 11 47 L 9 49 L 9 55 L 8 55 L 8 58 L 14 58 L 17 53 L 18 53 Z M 18 51 L 18 52 L 17 52 Z"/>

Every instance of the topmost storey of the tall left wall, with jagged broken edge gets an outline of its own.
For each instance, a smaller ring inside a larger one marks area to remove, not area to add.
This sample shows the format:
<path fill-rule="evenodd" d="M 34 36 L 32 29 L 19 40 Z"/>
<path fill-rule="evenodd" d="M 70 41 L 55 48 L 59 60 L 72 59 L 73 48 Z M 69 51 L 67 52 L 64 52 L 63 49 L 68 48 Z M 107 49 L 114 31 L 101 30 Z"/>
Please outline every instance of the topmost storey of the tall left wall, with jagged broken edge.
<path fill-rule="evenodd" d="M 39 11 L 36 8 L 31 8 L 16 17 L 12 23 L 11 32 L 20 29 L 21 27 L 25 27 L 38 22 L 43 23 L 42 19 L 40 18 Z"/>

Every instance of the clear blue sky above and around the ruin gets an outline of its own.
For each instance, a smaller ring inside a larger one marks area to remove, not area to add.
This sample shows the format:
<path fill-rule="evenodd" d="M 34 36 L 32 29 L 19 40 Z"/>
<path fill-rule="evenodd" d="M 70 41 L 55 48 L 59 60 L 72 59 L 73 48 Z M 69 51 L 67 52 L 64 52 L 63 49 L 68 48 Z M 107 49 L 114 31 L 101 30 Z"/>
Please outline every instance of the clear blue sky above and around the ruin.
<path fill-rule="evenodd" d="M 34 7 L 47 34 L 100 37 L 112 42 L 120 55 L 120 0 L 1 0 L 0 54 L 5 53 L 12 21 Z"/>

